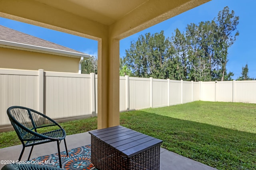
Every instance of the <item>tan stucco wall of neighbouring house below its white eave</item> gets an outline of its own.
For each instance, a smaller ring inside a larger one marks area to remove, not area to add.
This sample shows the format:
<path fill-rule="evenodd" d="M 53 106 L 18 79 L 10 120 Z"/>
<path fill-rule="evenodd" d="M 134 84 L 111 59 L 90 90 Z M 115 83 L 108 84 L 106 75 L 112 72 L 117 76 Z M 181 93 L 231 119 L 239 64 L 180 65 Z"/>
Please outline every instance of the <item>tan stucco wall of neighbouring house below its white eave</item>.
<path fill-rule="evenodd" d="M 80 59 L 0 48 L 0 68 L 78 73 Z"/>

